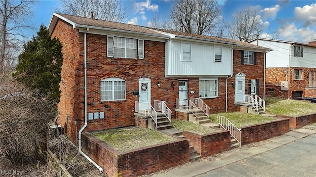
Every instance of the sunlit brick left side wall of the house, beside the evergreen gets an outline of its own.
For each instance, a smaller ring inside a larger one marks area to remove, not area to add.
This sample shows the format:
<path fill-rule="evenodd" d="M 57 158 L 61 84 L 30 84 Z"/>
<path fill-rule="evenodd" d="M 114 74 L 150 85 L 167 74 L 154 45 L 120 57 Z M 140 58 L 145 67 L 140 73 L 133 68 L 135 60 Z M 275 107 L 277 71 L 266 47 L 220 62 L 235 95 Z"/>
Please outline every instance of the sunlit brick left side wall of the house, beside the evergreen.
<path fill-rule="evenodd" d="M 60 102 L 58 110 L 60 117 L 58 123 L 65 128 L 66 134 L 73 142 L 76 142 L 76 127 L 74 121 L 82 117 L 83 114 L 83 56 L 79 51 L 83 50 L 82 41 L 79 40 L 79 32 L 73 29 L 63 20 L 58 20 L 52 37 L 59 38 L 63 44 L 63 66 L 61 70 L 60 82 Z M 80 99 L 82 98 L 82 99 Z M 67 117 L 70 120 L 67 120 Z M 81 122 L 78 121 L 78 129 Z"/>

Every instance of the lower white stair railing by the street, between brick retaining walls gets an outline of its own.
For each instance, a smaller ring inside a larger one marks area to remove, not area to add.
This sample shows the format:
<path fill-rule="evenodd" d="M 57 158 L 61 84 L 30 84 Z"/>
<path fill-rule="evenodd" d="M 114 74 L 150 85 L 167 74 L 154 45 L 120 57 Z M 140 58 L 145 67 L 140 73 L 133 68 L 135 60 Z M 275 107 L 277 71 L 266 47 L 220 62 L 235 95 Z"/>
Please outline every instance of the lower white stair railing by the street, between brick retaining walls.
<path fill-rule="evenodd" d="M 217 116 L 217 124 L 223 127 L 225 130 L 229 130 L 229 133 L 234 137 L 239 143 L 239 148 L 241 147 L 241 130 L 237 128 L 229 119 L 225 116 Z"/>

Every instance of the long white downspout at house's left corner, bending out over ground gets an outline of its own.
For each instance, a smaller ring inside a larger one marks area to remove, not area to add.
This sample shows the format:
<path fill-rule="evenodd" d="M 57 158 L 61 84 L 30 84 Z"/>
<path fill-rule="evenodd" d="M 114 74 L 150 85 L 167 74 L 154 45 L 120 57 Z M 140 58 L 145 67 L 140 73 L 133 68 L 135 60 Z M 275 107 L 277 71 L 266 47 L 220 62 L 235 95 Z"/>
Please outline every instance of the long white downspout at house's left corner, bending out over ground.
<path fill-rule="evenodd" d="M 87 28 L 87 30 L 84 32 L 84 125 L 79 130 L 79 133 L 78 133 L 78 140 L 79 140 L 78 149 L 79 149 L 80 154 L 82 154 L 89 162 L 91 162 L 100 171 L 100 173 L 102 173 L 103 169 L 81 150 L 81 133 L 88 124 L 87 122 L 87 32 L 88 30 L 89 28 Z"/>

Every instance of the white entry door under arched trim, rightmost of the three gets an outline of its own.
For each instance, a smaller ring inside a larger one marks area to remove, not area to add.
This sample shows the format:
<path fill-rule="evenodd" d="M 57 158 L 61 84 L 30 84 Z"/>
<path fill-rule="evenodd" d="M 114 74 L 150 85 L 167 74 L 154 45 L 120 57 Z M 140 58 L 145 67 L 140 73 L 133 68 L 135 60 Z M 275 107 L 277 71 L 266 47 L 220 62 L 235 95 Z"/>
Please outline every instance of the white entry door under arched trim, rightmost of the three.
<path fill-rule="evenodd" d="M 244 102 L 245 75 L 243 73 L 236 74 L 235 83 L 235 103 Z"/>

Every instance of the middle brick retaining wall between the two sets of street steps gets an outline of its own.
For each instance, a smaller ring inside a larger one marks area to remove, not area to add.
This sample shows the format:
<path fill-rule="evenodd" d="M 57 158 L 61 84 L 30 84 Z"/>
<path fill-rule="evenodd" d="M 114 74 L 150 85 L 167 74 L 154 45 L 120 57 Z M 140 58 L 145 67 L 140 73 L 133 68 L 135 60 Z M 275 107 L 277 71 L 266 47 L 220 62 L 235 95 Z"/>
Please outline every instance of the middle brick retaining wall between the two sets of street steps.
<path fill-rule="evenodd" d="M 231 149 L 231 135 L 229 131 L 221 131 L 206 135 L 197 135 L 191 132 L 182 132 L 190 144 L 194 146 L 201 157 L 221 153 Z"/>

